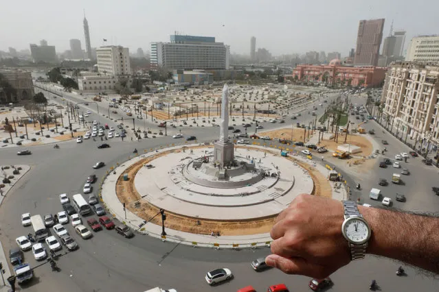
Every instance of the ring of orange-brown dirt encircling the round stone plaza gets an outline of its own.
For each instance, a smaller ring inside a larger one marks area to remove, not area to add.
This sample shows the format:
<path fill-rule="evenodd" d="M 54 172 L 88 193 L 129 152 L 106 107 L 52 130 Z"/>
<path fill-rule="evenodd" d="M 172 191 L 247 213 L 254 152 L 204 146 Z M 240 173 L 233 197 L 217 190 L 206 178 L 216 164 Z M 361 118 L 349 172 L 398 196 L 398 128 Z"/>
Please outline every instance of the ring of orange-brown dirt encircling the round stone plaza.
<path fill-rule="evenodd" d="M 196 147 L 188 147 L 190 149 L 196 148 L 205 148 L 206 146 L 196 146 Z M 245 148 L 242 146 L 236 146 L 238 148 Z M 267 151 L 256 149 L 258 151 Z M 181 149 L 175 151 L 179 152 Z M 156 154 L 155 156 L 144 158 L 131 165 L 124 171 L 124 173 L 128 173 L 128 178 L 130 180 L 124 181 L 123 175 L 117 179 L 116 182 L 116 194 L 120 202 L 126 204 L 126 208 L 131 212 L 135 213 L 138 217 L 151 221 L 157 225 L 161 224 L 161 217 L 156 216 L 159 212 L 159 208 L 150 204 L 145 199 L 142 199 L 141 195 L 137 192 L 134 186 L 134 178 L 139 171 L 143 167 L 144 164 L 148 164 L 150 161 L 159 158 L 160 156 L 164 156 L 170 153 L 170 151 L 164 151 Z M 315 168 L 307 165 L 304 162 L 299 162 L 294 158 L 289 157 L 289 160 L 297 162 L 298 165 L 308 170 L 311 177 L 315 182 L 315 189 L 313 191 L 316 195 L 322 195 L 324 197 L 331 197 L 332 190 L 330 188 L 330 184 Z M 137 204 L 136 204 L 137 203 Z M 191 232 L 196 234 L 210 234 L 212 231 L 219 231 L 222 235 L 250 235 L 250 234 L 261 234 L 267 233 L 271 230 L 273 226 L 275 217 L 277 215 L 273 215 L 271 217 L 266 217 L 257 220 L 240 220 L 240 221 L 228 221 L 228 220 L 209 220 L 209 219 L 197 219 L 193 217 L 186 217 L 183 215 L 179 215 L 177 213 L 167 211 L 166 216 L 166 227 L 172 228 L 174 230 L 181 230 L 184 232 Z M 156 216 L 156 217 L 155 217 Z"/>

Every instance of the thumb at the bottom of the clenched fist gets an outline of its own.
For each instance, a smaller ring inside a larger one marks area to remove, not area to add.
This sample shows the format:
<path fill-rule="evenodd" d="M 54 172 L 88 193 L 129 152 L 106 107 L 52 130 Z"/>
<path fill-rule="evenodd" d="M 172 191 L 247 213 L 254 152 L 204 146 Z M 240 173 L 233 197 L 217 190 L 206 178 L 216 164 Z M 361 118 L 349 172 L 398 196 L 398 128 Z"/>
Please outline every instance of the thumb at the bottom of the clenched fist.
<path fill-rule="evenodd" d="M 293 275 L 313 276 L 316 273 L 316 267 L 307 263 L 304 258 L 299 257 L 284 258 L 277 254 L 270 254 L 265 258 L 265 263 L 270 267 L 275 267 L 284 273 Z"/>

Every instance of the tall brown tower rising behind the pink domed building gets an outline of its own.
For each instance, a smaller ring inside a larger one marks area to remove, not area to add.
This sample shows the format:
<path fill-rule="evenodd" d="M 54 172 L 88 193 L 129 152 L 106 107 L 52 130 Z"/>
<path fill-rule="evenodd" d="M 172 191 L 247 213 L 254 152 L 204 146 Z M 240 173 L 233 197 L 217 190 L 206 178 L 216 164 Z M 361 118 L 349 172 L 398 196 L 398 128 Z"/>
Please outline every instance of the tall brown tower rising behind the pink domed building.
<path fill-rule="evenodd" d="M 358 26 L 354 64 L 376 66 L 383 38 L 384 19 L 361 20 Z"/>

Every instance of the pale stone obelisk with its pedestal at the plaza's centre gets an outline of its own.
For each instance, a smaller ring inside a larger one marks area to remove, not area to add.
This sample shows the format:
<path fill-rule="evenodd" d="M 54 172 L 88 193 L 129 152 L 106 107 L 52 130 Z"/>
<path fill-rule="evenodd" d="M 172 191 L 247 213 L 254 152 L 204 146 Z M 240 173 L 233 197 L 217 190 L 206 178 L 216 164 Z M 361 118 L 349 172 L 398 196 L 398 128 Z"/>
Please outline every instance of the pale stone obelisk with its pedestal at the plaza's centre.
<path fill-rule="evenodd" d="M 234 145 L 229 141 L 229 87 L 224 84 L 221 97 L 220 138 L 214 144 L 214 162 L 224 167 L 234 158 Z"/>

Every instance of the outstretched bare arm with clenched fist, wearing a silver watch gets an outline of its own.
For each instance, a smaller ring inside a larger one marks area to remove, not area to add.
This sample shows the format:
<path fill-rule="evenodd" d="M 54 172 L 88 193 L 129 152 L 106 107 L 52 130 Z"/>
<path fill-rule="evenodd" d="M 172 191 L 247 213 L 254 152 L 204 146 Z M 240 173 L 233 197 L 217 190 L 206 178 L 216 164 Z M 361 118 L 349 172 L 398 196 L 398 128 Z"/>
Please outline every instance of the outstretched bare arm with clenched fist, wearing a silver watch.
<path fill-rule="evenodd" d="M 438 274 L 438 228 L 434 215 L 301 194 L 275 220 L 272 254 L 265 263 L 284 273 L 323 279 L 367 253 Z M 361 237 L 357 248 L 349 234 Z"/>

